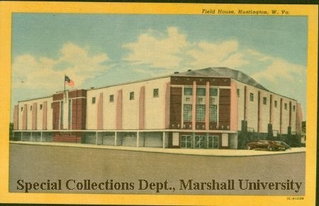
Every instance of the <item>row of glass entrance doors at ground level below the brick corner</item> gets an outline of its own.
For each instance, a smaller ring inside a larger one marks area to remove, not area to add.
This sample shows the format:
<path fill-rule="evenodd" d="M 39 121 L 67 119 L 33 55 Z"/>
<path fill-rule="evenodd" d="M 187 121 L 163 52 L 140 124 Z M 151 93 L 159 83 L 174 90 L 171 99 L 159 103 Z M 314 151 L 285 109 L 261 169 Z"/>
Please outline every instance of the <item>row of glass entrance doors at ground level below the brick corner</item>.
<path fill-rule="evenodd" d="M 207 148 L 218 148 L 218 136 L 208 136 Z M 181 135 L 181 148 L 206 148 L 206 136 Z"/>

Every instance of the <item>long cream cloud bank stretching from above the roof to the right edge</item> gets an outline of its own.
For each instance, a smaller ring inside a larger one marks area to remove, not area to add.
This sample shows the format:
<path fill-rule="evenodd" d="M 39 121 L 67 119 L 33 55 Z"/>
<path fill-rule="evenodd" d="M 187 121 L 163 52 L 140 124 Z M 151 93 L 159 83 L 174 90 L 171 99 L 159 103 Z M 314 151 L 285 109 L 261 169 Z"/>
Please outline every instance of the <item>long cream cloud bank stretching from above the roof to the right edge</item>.
<path fill-rule="evenodd" d="M 283 81 L 303 81 L 306 66 L 289 63 L 282 58 L 245 48 L 237 40 L 191 42 L 178 28 L 167 33 L 149 30 L 134 43 L 123 45 L 130 53 L 123 58 L 139 74 L 159 75 L 163 72 L 198 70 L 205 67 L 230 67 L 247 72 L 265 87 Z"/>

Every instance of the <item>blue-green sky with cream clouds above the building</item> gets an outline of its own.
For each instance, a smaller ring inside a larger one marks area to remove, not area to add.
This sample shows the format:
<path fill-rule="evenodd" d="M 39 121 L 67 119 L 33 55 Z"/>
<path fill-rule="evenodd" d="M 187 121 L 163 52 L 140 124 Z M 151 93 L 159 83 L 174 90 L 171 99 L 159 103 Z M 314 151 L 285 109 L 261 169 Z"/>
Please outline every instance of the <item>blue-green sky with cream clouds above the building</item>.
<path fill-rule="evenodd" d="M 101 87 L 230 67 L 301 102 L 306 117 L 306 16 L 13 13 L 12 105 L 64 88 Z"/>

